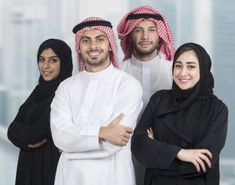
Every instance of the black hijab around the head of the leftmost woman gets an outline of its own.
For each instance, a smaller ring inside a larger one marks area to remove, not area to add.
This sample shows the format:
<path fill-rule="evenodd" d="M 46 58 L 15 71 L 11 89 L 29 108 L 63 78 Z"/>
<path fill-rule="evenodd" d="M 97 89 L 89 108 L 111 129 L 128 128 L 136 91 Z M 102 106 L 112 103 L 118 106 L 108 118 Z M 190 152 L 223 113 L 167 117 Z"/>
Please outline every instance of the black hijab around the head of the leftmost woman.
<path fill-rule="evenodd" d="M 37 101 L 53 95 L 60 82 L 72 75 L 72 52 L 70 47 L 62 40 L 48 39 L 44 41 L 38 49 L 37 62 L 39 61 L 40 54 L 45 49 L 49 48 L 52 49 L 60 59 L 60 73 L 58 77 L 50 81 L 45 81 L 42 75 L 40 75 L 39 83 L 33 91 L 33 96 Z"/>

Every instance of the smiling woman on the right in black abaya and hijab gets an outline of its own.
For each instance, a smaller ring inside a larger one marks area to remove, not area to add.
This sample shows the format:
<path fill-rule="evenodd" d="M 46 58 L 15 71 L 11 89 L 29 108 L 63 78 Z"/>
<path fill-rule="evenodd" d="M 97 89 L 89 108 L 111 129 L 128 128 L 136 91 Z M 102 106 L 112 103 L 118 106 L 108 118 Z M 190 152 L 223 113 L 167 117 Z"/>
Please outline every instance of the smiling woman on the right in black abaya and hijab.
<path fill-rule="evenodd" d="M 228 109 L 213 93 L 211 60 L 194 43 L 179 47 L 172 90 L 150 99 L 132 137 L 145 185 L 219 185 Z"/>

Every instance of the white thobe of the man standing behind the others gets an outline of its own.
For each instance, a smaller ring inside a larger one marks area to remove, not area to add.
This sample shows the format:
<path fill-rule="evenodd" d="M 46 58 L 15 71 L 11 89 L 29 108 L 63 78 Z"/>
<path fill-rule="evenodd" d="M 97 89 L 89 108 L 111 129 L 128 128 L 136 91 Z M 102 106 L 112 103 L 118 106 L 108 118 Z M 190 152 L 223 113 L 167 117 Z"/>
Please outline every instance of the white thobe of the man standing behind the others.
<path fill-rule="evenodd" d="M 159 90 L 171 89 L 172 62 L 166 60 L 165 54 L 159 52 L 150 61 L 140 61 L 134 55 L 122 63 L 121 69 L 139 80 L 143 87 L 143 109 L 150 97 Z"/>

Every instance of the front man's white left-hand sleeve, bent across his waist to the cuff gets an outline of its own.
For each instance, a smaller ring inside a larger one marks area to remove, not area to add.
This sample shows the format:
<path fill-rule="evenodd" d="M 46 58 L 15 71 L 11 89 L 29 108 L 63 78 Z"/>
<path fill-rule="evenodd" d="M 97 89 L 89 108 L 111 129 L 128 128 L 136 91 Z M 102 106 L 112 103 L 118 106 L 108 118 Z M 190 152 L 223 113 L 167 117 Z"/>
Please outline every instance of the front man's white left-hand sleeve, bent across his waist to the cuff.
<path fill-rule="evenodd" d="M 60 85 L 51 104 L 50 126 L 55 145 L 65 152 L 83 152 L 100 149 L 100 127 L 79 127 L 73 123 L 69 96 Z"/>

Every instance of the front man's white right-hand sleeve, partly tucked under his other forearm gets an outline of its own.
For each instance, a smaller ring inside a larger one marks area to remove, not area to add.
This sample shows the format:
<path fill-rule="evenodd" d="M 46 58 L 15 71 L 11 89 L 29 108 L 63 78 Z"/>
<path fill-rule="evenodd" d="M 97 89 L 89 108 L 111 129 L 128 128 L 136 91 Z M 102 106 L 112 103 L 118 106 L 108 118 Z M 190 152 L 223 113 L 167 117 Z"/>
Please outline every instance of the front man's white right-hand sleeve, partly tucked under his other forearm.
<path fill-rule="evenodd" d="M 124 113 L 124 118 L 121 121 L 122 125 L 131 127 L 133 130 L 136 126 L 138 115 L 142 109 L 143 90 L 138 81 L 133 83 L 124 83 L 119 90 L 119 97 L 115 104 L 112 119 L 117 117 L 120 113 Z M 130 141 L 129 141 L 130 142 Z M 67 159 L 94 159 L 106 158 L 119 152 L 123 147 L 110 144 L 109 142 L 102 142 L 101 148 L 95 151 L 88 151 L 82 153 L 67 153 Z M 125 146 L 124 146 L 125 147 Z"/>

